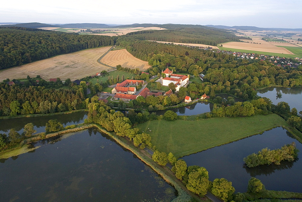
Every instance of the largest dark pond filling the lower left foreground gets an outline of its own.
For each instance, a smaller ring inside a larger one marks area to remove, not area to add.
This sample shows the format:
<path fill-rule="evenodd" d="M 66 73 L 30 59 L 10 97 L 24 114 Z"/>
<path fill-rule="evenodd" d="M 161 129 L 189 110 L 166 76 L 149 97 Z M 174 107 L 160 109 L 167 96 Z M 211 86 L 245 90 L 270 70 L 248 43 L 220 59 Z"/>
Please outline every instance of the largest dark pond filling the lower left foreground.
<path fill-rule="evenodd" d="M 0 160 L 2 201 L 171 201 L 175 189 L 97 129 Z"/>

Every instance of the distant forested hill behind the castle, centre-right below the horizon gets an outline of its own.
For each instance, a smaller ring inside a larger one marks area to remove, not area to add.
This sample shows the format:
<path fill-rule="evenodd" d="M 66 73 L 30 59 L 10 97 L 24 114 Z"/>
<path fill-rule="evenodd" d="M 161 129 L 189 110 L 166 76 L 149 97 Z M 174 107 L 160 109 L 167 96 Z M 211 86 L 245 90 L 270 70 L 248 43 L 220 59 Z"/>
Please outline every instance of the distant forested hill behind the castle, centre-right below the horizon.
<path fill-rule="evenodd" d="M 240 41 L 240 39 L 242 39 L 242 37 L 237 37 L 229 31 L 204 28 L 175 28 L 173 30 L 137 31 L 128 33 L 127 36 L 140 40 L 206 44 L 212 46 L 217 46 L 217 44 L 229 41 Z"/>

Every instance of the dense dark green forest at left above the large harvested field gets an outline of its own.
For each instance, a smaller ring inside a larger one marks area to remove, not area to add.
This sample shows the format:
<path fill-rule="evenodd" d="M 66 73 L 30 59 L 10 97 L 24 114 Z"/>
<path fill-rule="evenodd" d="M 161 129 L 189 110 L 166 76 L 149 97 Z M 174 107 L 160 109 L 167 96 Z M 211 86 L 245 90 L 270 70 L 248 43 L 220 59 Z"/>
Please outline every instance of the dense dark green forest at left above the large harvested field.
<path fill-rule="evenodd" d="M 117 37 L 0 27 L 0 70 L 87 48 L 110 46 Z"/>

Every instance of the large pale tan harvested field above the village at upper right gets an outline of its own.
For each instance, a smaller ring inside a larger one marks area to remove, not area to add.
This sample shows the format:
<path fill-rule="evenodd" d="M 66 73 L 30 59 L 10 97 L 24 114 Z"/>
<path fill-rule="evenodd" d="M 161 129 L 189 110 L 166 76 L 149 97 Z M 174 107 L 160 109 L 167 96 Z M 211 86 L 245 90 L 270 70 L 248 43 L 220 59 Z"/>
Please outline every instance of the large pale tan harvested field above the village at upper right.
<path fill-rule="evenodd" d="M 234 48 L 234 49 L 243 49 L 243 50 L 252 50 L 252 51 L 262 51 L 270 53 L 281 53 L 281 54 L 293 54 L 291 51 L 283 47 L 276 47 L 271 44 L 271 42 L 263 41 L 259 37 L 251 37 L 252 43 L 243 43 L 243 42 L 228 42 L 223 44 L 223 47 Z M 254 44 L 258 43 L 258 44 Z M 261 43 L 261 44 L 260 44 Z"/>

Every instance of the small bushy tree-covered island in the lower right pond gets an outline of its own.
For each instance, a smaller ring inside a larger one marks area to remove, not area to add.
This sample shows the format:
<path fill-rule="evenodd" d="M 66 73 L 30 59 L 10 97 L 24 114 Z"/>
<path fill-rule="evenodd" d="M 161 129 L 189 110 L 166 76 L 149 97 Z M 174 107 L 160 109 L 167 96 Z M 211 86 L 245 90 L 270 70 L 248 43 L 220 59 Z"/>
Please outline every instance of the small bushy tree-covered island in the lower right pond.
<path fill-rule="evenodd" d="M 249 168 L 258 165 L 270 165 L 272 163 L 280 165 L 280 161 L 294 161 L 298 156 L 298 151 L 295 142 L 293 142 L 289 145 L 284 145 L 281 149 L 270 150 L 264 148 L 258 151 L 258 154 L 253 153 L 243 158 L 243 161 Z"/>

